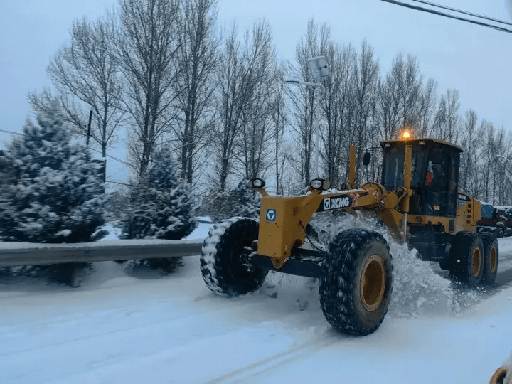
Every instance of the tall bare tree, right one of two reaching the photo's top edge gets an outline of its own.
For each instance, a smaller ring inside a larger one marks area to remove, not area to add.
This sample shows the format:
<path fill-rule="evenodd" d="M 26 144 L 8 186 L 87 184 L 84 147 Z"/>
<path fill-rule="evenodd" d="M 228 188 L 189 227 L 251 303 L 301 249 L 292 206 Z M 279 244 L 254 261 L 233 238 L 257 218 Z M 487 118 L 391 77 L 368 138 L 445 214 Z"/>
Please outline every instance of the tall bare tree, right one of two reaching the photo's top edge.
<path fill-rule="evenodd" d="M 178 35 L 178 60 L 183 65 L 174 82 L 178 121 L 174 134 L 178 139 L 181 177 L 193 182 L 200 166 L 198 155 L 207 144 L 213 119 L 213 92 L 216 86 L 218 48 L 215 36 L 217 0 L 183 0 Z"/>

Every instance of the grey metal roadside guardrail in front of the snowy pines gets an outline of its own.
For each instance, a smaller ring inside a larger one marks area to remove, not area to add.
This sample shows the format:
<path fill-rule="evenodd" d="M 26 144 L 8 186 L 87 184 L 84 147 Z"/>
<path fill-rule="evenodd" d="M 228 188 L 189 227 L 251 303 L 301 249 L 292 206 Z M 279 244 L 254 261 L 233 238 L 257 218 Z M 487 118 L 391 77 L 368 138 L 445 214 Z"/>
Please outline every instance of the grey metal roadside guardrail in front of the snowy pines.
<path fill-rule="evenodd" d="M 0 242 L 0 267 L 159 259 L 201 254 L 203 240 L 106 240 L 74 244 Z"/>

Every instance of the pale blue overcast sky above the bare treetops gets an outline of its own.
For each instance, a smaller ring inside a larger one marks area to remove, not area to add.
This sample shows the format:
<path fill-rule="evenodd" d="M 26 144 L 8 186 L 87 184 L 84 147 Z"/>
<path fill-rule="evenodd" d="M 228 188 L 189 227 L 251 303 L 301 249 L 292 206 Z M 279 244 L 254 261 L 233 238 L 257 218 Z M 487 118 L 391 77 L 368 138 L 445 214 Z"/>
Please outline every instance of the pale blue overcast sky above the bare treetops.
<path fill-rule="evenodd" d="M 512 21 L 510 0 L 431 1 Z M 0 1 L 0 129 L 21 132 L 30 112 L 26 94 L 50 85 L 46 65 L 69 41 L 73 20 L 97 18 L 114 4 L 115 0 Z M 479 119 L 512 130 L 512 34 L 380 0 L 219 0 L 220 28 L 230 28 L 236 19 L 245 31 L 260 16 L 270 21 L 282 60 L 293 59 L 307 21 L 314 18 L 331 26 L 338 43 L 359 48 L 366 38 L 380 59 L 381 73 L 398 53 L 415 55 L 425 78 L 438 81 L 439 92 L 459 90 L 462 114 L 473 108 Z M 10 137 L 0 132 L 0 141 Z"/>

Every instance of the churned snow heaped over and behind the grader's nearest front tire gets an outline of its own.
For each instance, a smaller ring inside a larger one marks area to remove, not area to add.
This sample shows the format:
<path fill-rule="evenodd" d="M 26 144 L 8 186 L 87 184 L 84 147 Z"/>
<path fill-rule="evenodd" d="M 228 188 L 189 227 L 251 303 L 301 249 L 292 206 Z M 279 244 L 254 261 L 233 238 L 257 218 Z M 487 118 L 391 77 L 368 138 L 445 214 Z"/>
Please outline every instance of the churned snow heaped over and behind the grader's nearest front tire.
<path fill-rule="evenodd" d="M 376 218 L 360 212 L 353 215 L 319 213 L 311 220 L 311 225 L 326 248 L 341 230 L 351 228 L 375 230 L 388 240 L 394 268 L 390 315 L 402 317 L 453 312 L 454 291 L 449 280 L 435 273 L 430 262 L 418 259 L 416 250 L 408 250 L 407 245 L 393 240 L 388 229 L 379 225 Z"/>

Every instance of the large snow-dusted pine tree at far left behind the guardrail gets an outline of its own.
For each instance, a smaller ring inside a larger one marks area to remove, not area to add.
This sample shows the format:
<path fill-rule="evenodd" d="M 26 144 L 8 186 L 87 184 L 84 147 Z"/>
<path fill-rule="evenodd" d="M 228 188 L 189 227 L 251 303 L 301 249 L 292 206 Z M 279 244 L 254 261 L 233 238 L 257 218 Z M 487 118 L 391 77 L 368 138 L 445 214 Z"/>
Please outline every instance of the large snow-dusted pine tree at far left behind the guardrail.
<path fill-rule="evenodd" d="M 86 242 L 103 224 L 100 164 L 70 141 L 58 107 L 27 120 L 7 144 L 0 177 L 0 238 L 28 242 Z"/>

